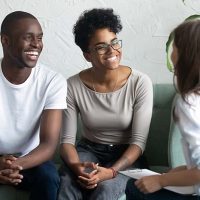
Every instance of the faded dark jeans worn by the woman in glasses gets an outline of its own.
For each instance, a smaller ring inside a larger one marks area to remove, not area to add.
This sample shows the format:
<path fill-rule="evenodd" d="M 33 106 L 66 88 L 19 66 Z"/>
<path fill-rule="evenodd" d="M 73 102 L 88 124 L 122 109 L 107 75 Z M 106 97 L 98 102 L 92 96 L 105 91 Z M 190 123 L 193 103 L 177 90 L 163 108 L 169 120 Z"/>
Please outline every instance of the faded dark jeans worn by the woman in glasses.
<path fill-rule="evenodd" d="M 80 160 L 99 163 L 100 166 L 110 167 L 121 157 L 128 145 L 104 145 L 81 140 L 77 145 Z M 139 161 L 137 162 L 139 164 Z M 139 167 L 139 165 L 137 166 Z M 117 200 L 125 192 L 127 176 L 118 174 L 114 179 L 98 183 L 95 189 L 87 190 L 80 187 L 77 177 L 66 166 L 60 169 L 61 185 L 58 200 Z"/>

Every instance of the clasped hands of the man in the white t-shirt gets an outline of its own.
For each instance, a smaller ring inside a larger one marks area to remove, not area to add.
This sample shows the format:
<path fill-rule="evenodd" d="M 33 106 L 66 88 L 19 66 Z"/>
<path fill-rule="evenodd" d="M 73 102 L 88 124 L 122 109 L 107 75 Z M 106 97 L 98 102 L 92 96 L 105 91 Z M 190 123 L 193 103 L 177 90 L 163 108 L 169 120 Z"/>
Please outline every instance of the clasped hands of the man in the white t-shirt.
<path fill-rule="evenodd" d="M 0 183 L 9 185 L 18 185 L 23 176 L 19 174 L 22 167 L 15 164 L 17 160 L 13 155 L 0 157 Z"/>

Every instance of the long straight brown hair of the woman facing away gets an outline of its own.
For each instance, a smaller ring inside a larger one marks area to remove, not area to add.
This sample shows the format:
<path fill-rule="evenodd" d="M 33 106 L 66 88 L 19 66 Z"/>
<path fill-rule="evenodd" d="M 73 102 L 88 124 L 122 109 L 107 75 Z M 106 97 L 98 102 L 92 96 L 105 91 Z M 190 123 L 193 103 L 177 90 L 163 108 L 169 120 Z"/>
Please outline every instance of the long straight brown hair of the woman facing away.
<path fill-rule="evenodd" d="M 200 20 L 180 24 L 173 34 L 178 49 L 175 75 L 178 90 L 185 100 L 188 93 L 200 94 Z"/>

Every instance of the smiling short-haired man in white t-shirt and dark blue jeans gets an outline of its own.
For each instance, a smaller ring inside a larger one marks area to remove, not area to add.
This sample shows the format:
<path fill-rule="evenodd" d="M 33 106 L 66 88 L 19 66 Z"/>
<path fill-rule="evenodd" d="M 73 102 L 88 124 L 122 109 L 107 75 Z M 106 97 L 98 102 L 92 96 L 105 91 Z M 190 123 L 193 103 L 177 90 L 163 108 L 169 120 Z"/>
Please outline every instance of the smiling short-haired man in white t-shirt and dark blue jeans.
<path fill-rule="evenodd" d="M 67 84 L 39 64 L 43 32 L 27 12 L 1 25 L 0 184 L 29 189 L 31 200 L 56 200 L 59 176 L 49 161 L 57 146 Z"/>

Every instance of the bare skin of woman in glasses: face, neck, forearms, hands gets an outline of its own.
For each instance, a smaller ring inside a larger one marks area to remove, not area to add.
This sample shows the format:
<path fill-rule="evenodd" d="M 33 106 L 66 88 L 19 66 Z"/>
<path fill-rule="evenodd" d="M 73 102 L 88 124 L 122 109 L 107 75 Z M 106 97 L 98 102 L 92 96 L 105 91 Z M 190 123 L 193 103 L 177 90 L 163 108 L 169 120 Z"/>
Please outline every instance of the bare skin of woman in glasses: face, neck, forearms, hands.
<path fill-rule="evenodd" d="M 97 29 L 89 42 L 89 52 L 83 55 L 88 62 L 92 64 L 92 68 L 84 70 L 80 73 L 80 78 L 89 88 L 101 93 L 111 92 L 121 88 L 127 81 L 131 70 L 126 66 L 120 65 L 122 50 L 114 50 L 111 46 L 103 55 L 99 55 L 95 51 L 95 47 L 99 44 L 110 44 L 117 36 L 110 32 L 109 29 Z M 97 76 L 98 74 L 98 76 Z M 116 79 L 116 75 L 118 78 Z M 72 144 L 61 145 L 61 155 L 67 165 L 77 175 L 79 184 L 87 189 L 95 188 L 99 182 L 113 178 L 113 171 L 109 168 L 98 166 L 96 163 L 81 163 Z M 130 145 L 124 154 L 113 164 L 116 171 L 126 169 L 141 155 L 141 149 L 137 145 Z M 91 168 L 91 173 L 85 173 L 86 168 Z"/>

